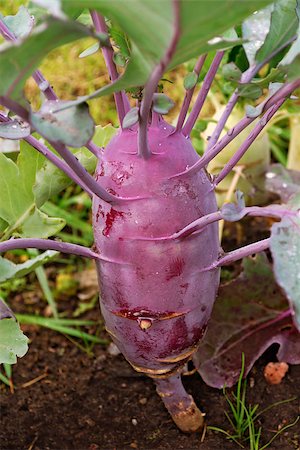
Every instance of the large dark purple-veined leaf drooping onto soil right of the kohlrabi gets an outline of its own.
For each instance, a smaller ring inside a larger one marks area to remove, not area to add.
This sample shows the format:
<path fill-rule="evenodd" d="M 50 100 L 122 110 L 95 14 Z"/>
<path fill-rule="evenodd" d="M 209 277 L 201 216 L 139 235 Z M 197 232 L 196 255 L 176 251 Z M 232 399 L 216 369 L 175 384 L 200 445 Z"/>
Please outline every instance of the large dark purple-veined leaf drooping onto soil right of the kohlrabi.
<path fill-rule="evenodd" d="M 207 334 L 193 358 L 203 380 L 216 388 L 238 380 L 242 353 L 247 375 L 274 343 L 280 345 L 279 360 L 300 363 L 300 334 L 266 255 L 244 259 L 243 266 L 237 279 L 221 286 Z"/>

